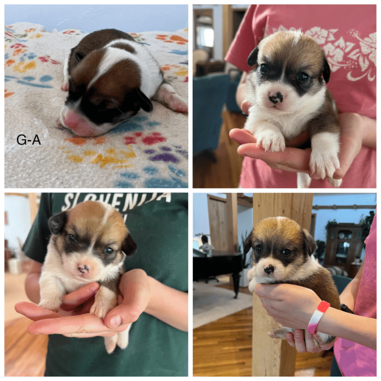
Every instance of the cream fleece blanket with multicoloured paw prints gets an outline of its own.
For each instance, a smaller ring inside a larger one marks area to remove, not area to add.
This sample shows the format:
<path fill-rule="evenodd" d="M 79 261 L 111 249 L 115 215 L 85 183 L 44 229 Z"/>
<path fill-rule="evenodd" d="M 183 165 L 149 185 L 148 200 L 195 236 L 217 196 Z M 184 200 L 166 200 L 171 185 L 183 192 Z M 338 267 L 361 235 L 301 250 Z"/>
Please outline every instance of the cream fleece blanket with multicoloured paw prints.
<path fill-rule="evenodd" d="M 126 32 L 148 45 L 188 99 L 188 29 Z M 64 58 L 84 36 L 28 22 L 5 27 L 5 188 L 187 188 L 188 114 L 153 101 L 153 111 L 103 136 L 56 127 Z"/>

